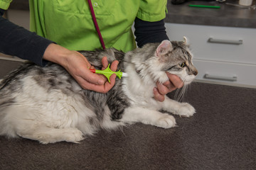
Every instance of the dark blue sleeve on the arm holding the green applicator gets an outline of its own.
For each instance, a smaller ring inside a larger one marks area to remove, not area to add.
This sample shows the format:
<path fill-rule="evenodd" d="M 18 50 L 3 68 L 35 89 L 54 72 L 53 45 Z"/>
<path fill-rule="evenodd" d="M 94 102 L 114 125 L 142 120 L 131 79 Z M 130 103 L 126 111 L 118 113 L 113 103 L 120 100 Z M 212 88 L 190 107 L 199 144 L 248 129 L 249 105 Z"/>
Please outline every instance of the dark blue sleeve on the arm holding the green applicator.
<path fill-rule="evenodd" d="M 2 17 L 3 14 L 4 10 L 0 9 L 0 52 L 41 66 L 46 65 L 43 54 L 48 45 L 54 42 L 11 23 Z"/>

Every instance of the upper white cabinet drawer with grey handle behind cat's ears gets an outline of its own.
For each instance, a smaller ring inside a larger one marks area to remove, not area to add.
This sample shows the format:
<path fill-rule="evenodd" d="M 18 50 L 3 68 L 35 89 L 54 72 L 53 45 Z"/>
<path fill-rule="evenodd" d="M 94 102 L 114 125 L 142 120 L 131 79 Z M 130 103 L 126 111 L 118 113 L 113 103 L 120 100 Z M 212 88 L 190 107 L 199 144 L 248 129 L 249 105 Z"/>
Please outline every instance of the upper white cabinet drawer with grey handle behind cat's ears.
<path fill-rule="evenodd" d="M 256 29 L 166 23 L 171 40 L 188 37 L 195 59 L 256 64 Z M 242 42 L 240 45 L 208 42 L 209 38 Z"/>

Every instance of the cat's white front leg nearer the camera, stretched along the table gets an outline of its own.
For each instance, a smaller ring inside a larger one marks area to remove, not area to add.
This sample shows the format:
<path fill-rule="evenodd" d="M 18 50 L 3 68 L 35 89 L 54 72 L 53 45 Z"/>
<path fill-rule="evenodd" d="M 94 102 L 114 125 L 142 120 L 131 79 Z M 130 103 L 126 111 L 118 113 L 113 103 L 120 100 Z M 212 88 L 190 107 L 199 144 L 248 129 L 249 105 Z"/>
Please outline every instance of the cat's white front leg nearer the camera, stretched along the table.
<path fill-rule="evenodd" d="M 126 108 L 121 119 L 124 123 L 144 123 L 160 128 L 171 128 L 176 125 L 174 116 L 147 108 Z"/>

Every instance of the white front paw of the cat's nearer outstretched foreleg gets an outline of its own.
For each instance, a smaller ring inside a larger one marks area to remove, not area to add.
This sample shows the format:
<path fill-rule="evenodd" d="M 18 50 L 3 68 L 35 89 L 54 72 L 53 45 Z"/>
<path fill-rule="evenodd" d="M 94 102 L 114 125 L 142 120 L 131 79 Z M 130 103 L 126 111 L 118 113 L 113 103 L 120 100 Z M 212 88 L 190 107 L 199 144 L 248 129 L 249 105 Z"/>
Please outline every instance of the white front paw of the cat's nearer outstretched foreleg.
<path fill-rule="evenodd" d="M 176 125 L 176 120 L 174 116 L 167 113 L 162 114 L 161 118 L 156 120 L 156 126 L 160 128 L 172 128 Z"/>

